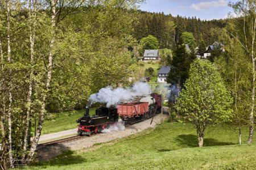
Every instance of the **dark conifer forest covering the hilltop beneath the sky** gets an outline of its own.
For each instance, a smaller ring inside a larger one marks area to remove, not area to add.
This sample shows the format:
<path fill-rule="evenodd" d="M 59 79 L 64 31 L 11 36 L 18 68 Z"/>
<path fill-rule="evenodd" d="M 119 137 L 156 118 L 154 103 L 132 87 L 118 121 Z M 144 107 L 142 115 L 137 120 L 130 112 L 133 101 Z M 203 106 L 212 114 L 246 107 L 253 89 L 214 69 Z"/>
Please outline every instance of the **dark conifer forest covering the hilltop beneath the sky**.
<path fill-rule="evenodd" d="M 185 18 L 179 15 L 172 16 L 163 13 L 139 11 L 137 20 L 133 23 L 133 36 L 137 40 L 152 35 L 159 41 L 160 48 L 172 48 L 179 40 L 181 33 L 192 32 L 195 41 L 199 44 L 200 36 L 207 45 L 218 40 L 220 28 L 224 28 L 228 20 L 200 20 Z"/>

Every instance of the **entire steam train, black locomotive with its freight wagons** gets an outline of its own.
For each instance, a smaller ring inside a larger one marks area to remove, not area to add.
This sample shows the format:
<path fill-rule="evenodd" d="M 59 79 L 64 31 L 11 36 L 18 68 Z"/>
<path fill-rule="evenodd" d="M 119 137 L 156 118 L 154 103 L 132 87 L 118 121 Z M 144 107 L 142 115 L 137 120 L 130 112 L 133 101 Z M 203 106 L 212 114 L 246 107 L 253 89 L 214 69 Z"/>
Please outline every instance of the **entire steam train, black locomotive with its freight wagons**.
<path fill-rule="evenodd" d="M 110 125 L 117 124 L 118 117 L 121 117 L 125 124 L 146 120 L 154 116 L 162 109 L 162 96 L 151 94 L 141 96 L 139 100 L 122 102 L 117 107 L 102 107 L 96 109 L 93 116 L 89 115 L 89 108 L 85 109 L 84 116 L 77 120 L 79 135 L 97 134 Z"/>

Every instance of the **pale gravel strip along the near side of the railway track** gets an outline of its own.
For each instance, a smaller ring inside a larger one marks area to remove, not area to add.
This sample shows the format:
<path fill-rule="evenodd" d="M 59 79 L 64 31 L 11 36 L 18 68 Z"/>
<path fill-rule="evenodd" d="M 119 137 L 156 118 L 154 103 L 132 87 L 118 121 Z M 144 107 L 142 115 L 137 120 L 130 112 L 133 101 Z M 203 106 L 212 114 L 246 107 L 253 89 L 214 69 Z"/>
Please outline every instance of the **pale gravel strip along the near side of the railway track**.
<path fill-rule="evenodd" d="M 154 117 L 154 121 L 150 125 L 151 118 L 142 122 L 138 122 L 134 125 L 126 126 L 125 130 L 110 131 L 109 133 L 100 133 L 92 135 L 91 137 L 85 137 L 79 141 L 73 141 L 70 143 L 63 143 L 55 146 L 48 146 L 43 150 L 38 151 L 38 160 L 51 159 L 67 150 L 81 150 L 83 148 L 92 147 L 96 143 L 110 142 L 115 139 L 127 137 L 131 134 L 139 133 L 148 128 L 155 128 L 156 125 L 160 124 L 162 120 L 166 119 L 168 114 L 157 114 Z"/>

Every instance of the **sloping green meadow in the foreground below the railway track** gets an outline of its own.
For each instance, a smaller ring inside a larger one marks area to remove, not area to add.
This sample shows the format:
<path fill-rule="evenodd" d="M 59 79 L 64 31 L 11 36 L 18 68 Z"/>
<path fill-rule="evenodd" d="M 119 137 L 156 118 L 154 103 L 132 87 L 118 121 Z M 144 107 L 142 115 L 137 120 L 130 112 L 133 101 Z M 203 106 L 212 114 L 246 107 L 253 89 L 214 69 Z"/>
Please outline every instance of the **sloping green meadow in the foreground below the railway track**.
<path fill-rule="evenodd" d="M 256 145 L 238 143 L 234 126 L 211 126 L 204 147 L 197 147 L 192 124 L 164 122 L 110 143 L 101 143 L 88 152 L 67 151 L 48 162 L 26 169 L 255 169 Z M 242 141 L 247 138 L 242 129 Z M 82 145 L 82 144 L 81 144 Z"/>

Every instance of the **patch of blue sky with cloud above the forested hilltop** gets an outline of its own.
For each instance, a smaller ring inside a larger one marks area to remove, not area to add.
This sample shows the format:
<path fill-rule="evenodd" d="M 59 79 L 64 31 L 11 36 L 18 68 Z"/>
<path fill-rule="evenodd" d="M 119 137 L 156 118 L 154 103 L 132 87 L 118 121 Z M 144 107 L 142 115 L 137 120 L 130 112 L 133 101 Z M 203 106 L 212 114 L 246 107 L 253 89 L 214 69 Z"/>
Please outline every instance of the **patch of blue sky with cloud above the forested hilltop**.
<path fill-rule="evenodd" d="M 196 16 L 200 19 L 226 18 L 232 8 L 229 2 L 236 0 L 146 0 L 141 5 L 141 10 L 150 12 L 164 12 L 174 16 Z"/>

